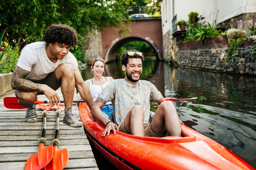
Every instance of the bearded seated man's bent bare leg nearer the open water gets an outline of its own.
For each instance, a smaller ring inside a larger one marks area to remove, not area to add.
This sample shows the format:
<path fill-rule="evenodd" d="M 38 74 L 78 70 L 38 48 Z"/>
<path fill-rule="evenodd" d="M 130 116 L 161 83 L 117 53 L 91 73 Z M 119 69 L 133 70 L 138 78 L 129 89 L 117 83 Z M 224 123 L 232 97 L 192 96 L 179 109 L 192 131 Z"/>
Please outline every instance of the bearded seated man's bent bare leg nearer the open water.
<path fill-rule="evenodd" d="M 162 102 L 151 121 L 151 127 L 159 134 L 165 129 L 170 136 L 182 136 L 180 119 L 171 101 Z"/>

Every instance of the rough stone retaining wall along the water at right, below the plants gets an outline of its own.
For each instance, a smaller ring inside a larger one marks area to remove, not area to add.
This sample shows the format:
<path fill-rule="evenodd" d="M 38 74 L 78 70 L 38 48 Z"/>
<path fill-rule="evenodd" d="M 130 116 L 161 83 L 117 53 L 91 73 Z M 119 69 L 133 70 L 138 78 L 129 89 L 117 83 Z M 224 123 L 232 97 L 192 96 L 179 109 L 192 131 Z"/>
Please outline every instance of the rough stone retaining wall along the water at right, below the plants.
<path fill-rule="evenodd" d="M 256 75 L 256 56 L 248 55 L 252 48 L 239 49 L 235 59 L 226 59 L 227 49 L 179 51 L 174 62 L 196 69 Z"/>

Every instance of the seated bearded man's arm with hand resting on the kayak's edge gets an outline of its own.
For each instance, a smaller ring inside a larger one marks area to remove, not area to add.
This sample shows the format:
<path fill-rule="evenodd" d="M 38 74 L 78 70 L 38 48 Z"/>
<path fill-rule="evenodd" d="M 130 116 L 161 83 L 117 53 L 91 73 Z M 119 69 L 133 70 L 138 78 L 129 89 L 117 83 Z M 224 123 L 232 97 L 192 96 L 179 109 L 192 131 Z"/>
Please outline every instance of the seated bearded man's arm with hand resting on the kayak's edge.
<path fill-rule="evenodd" d="M 92 106 L 91 109 L 91 114 L 103 125 L 106 126 L 103 134 L 101 136 L 105 136 L 105 135 L 109 135 L 110 131 L 113 130 L 114 134 L 116 134 L 116 129 L 119 130 L 118 126 L 113 123 L 113 122 L 109 122 L 110 120 L 104 115 L 104 113 L 101 111 L 101 108 L 107 103 L 107 101 L 105 101 L 102 98 L 97 98 L 95 103 Z M 109 123 L 108 123 L 109 122 Z"/>

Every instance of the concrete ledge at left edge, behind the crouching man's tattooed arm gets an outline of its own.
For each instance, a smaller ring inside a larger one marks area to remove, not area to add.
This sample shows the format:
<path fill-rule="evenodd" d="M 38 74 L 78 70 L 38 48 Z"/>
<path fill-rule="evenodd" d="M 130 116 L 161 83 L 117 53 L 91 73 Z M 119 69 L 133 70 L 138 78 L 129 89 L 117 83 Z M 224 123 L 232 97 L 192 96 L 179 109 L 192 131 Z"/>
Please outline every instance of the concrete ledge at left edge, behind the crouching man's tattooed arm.
<path fill-rule="evenodd" d="M 12 73 L 0 74 L 0 97 L 13 91 L 11 87 Z"/>

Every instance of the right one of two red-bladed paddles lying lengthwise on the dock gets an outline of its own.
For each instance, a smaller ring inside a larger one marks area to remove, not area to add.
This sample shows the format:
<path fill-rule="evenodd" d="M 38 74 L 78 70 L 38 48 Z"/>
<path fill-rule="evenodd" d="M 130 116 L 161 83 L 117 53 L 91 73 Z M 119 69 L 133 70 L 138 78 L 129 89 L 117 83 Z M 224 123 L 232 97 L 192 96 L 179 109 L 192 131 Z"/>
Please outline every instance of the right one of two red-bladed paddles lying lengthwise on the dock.
<path fill-rule="evenodd" d="M 66 167 L 69 161 L 69 152 L 68 150 L 62 149 L 59 150 L 58 146 L 60 145 L 59 137 L 59 114 L 60 109 L 56 110 L 57 119 L 56 119 L 56 128 L 55 128 L 55 136 L 52 141 L 53 145 L 53 158 L 49 164 L 46 165 L 45 170 L 62 170 Z"/>

